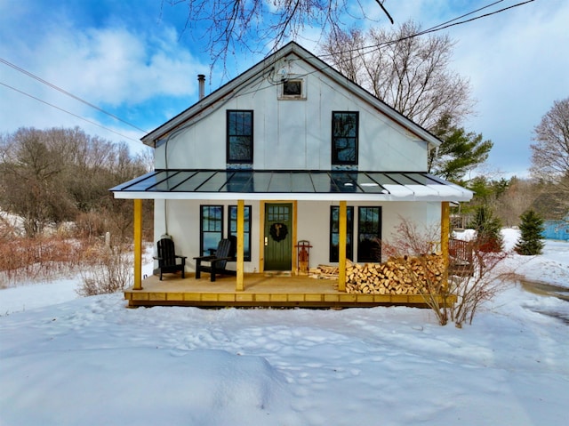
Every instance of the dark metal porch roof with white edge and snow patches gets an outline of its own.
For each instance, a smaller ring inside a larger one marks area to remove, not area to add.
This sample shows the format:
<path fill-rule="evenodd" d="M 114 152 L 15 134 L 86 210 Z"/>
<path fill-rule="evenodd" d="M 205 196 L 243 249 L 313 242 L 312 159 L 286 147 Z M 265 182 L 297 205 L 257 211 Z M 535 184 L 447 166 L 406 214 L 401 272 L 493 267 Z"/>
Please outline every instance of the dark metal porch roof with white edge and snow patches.
<path fill-rule="evenodd" d="M 155 170 L 110 189 L 116 198 L 320 201 L 469 201 L 429 173 L 305 170 Z"/>

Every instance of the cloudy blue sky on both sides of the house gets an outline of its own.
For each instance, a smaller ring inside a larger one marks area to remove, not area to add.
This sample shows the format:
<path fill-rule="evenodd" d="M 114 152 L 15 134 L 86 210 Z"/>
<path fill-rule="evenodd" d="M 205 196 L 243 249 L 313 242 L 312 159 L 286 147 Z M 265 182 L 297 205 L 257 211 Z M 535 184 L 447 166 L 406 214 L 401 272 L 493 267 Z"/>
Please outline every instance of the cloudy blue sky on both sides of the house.
<path fill-rule="evenodd" d="M 485 12 L 520 1 L 502 0 Z M 372 14 L 378 20 L 357 20 L 359 25 L 391 26 L 375 0 L 360 2 L 366 11 L 377 11 Z M 430 28 L 491 3 L 386 0 L 384 5 L 396 25 L 413 19 Z M 207 76 L 209 93 L 262 59 L 235 52 L 228 75 L 221 63 L 210 68 L 199 40 L 204 24 L 183 30 L 186 7 L 162 0 L 0 0 L 0 59 L 138 128 L 0 62 L 0 132 L 78 125 L 140 149 L 143 131 L 196 102 L 197 74 Z M 535 0 L 438 33 L 456 41 L 453 70 L 469 78 L 477 100 L 477 115 L 465 127 L 494 142 L 485 173 L 525 176 L 533 127 L 554 100 L 569 97 L 567 22 L 569 2 Z M 306 28 L 296 41 L 317 53 L 319 36 L 317 28 Z"/>

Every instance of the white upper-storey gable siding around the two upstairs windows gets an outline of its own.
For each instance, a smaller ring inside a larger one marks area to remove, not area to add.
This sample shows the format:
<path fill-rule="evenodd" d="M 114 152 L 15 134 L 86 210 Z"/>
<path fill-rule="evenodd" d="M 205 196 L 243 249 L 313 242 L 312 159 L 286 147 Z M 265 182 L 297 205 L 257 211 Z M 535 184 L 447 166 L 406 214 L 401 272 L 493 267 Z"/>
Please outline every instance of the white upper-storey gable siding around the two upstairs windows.
<path fill-rule="evenodd" d="M 259 77 L 171 133 L 156 148 L 156 168 L 225 168 L 226 111 L 252 109 L 254 169 L 330 170 L 332 112 L 358 111 L 359 170 L 426 171 L 425 141 L 306 62 L 294 61 L 292 71 L 304 79 L 306 100 L 279 100 L 281 85 Z"/>

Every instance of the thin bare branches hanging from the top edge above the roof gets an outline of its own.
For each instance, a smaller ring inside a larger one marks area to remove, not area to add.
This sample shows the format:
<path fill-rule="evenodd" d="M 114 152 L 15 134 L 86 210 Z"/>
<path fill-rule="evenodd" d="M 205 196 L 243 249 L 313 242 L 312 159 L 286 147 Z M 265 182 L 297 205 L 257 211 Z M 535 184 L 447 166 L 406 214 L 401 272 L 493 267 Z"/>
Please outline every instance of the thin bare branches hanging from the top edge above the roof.
<path fill-rule="evenodd" d="M 383 1 L 377 3 L 391 20 Z M 273 52 L 306 28 L 319 28 L 324 35 L 347 18 L 369 20 L 372 14 L 360 0 L 162 0 L 164 4 L 187 6 L 184 30 L 200 35 L 205 23 L 205 47 L 213 63 L 225 63 L 231 52 Z"/>

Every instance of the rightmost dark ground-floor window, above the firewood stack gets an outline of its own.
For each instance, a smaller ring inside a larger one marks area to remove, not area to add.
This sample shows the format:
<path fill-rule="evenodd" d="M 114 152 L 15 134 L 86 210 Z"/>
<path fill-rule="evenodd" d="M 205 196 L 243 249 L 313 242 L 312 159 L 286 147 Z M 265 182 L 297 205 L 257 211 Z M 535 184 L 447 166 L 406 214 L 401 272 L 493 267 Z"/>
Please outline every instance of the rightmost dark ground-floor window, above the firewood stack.
<path fill-rule="evenodd" d="M 381 261 L 381 207 L 358 208 L 357 261 Z"/>

